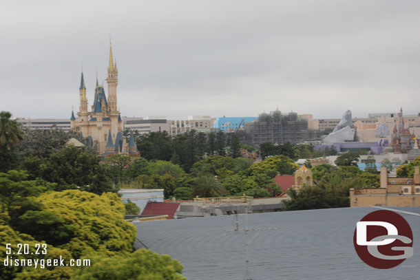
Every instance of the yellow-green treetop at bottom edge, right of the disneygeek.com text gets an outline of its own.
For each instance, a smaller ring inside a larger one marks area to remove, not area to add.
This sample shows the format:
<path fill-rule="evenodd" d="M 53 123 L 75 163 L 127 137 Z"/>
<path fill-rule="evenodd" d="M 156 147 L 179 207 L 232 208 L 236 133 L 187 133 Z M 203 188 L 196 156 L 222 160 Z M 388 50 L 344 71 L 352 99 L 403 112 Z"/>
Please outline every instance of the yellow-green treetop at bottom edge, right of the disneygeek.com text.
<path fill-rule="evenodd" d="M 74 271 L 73 280 L 187 280 L 182 266 L 168 255 L 140 249 L 117 257 L 96 257 L 92 266 Z"/>

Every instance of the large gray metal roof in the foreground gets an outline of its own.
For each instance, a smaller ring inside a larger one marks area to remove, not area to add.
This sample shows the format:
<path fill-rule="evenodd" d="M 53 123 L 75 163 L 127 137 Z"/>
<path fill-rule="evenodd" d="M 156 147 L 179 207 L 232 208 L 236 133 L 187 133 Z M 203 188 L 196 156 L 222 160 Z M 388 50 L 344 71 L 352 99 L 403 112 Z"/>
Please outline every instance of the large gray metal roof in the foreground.
<path fill-rule="evenodd" d="M 388 270 L 367 266 L 353 246 L 356 223 L 374 207 L 238 215 L 240 229 L 278 228 L 247 232 L 229 231 L 234 215 L 134 225 L 148 248 L 180 261 L 188 280 L 244 279 L 246 240 L 253 280 L 420 279 L 420 208 L 388 209 L 417 213 L 399 213 L 412 228 L 414 256 Z"/>

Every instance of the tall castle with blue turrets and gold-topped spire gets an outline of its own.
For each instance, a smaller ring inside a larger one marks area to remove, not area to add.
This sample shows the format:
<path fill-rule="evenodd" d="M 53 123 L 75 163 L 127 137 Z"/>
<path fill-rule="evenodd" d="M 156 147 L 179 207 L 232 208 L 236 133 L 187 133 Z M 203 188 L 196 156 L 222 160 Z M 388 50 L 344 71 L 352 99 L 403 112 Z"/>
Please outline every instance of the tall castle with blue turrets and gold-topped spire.
<path fill-rule="evenodd" d="M 109 46 L 108 76 L 105 80 L 108 85 L 108 98 L 105 96 L 103 85 L 98 84 L 98 77 L 96 77 L 94 104 L 91 111 L 87 111 L 86 87 L 82 70 L 79 87 L 80 106 L 77 119 L 72 111 L 70 118 L 72 130 L 80 133 L 88 146 L 96 147 L 101 154 L 129 153 L 138 155 L 133 133 L 130 133 L 128 144 L 123 138 L 123 120 L 117 109 L 116 98 L 118 68 L 112 56 L 112 45 Z"/>

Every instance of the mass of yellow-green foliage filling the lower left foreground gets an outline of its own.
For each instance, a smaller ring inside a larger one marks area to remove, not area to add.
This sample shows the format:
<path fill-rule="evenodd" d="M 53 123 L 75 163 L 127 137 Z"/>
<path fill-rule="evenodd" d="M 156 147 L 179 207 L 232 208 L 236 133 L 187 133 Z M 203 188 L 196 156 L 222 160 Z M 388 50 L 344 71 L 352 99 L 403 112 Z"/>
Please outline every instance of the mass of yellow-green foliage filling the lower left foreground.
<path fill-rule="evenodd" d="M 29 254 L 13 256 L 91 259 L 92 267 L 35 269 L 4 266 L 1 261 L 1 280 L 182 279 L 182 266 L 169 256 L 149 250 L 132 253 L 136 228 L 124 221 L 126 208 L 115 193 L 99 196 L 79 190 L 50 191 L 54 184 L 27 179 L 25 171 L 0 173 L 0 259 L 8 256 L 6 244 L 12 244 L 12 252 L 18 251 L 17 244 L 29 244 Z M 35 255 L 35 244 L 45 243 L 48 254 Z M 98 270 L 109 278 L 97 276 Z M 136 278 L 127 278 L 134 275 Z"/>

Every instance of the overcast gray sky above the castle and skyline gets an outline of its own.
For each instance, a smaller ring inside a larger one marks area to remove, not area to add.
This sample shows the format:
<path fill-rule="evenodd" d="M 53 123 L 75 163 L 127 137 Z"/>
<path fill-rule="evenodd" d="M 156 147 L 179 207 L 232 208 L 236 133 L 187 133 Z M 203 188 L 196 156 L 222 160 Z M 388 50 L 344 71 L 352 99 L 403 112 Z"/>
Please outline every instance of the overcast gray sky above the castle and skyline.
<path fill-rule="evenodd" d="M 92 105 L 112 36 L 123 116 L 417 114 L 419 15 L 418 0 L 0 0 L 0 110 L 70 118 L 82 62 Z"/>

